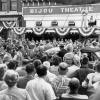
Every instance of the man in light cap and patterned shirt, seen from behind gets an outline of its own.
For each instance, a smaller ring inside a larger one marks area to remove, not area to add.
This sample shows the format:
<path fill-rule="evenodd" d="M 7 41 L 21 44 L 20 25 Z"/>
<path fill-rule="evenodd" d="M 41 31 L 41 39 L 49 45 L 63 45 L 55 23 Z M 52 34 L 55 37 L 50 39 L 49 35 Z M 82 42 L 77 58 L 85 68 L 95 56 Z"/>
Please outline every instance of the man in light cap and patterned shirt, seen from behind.
<path fill-rule="evenodd" d="M 70 78 L 66 76 L 67 71 L 68 64 L 61 62 L 58 68 L 59 75 L 52 82 L 52 87 L 57 97 L 60 97 L 63 93 L 69 92 L 68 84 Z"/>

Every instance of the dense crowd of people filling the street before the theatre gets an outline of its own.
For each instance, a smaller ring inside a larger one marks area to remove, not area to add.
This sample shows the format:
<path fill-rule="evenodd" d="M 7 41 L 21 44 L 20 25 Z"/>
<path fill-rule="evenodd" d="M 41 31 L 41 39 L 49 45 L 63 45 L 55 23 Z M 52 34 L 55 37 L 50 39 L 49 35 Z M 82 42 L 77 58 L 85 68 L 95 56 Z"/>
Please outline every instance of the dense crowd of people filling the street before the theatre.
<path fill-rule="evenodd" d="M 100 62 L 84 47 L 100 43 L 0 38 L 0 100 L 99 100 Z"/>

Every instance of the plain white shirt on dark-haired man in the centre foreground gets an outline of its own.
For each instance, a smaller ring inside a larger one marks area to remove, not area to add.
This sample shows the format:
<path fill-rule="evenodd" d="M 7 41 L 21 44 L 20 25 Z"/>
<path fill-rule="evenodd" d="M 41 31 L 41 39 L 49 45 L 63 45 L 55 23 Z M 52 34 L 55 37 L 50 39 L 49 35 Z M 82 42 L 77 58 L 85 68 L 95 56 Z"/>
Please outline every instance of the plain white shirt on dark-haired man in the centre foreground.
<path fill-rule="evenodd" d="M 43 78 L 35 78 L 27 83 L 26 90 L 32 100 L 53 100 L 56 99 L 54 91 L 49 83 Z"/>

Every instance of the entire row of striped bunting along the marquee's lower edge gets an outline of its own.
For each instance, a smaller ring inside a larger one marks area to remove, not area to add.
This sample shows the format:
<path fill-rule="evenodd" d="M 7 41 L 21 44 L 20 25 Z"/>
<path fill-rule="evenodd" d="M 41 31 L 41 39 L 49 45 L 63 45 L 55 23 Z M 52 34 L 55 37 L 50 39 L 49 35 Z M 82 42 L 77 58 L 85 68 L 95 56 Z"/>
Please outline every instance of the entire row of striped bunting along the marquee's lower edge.
<path fill-rule="evenodd" d="M 26 27 L 9 27 L 10 29 L 13 29 L 13 31 L 18 34 L 18 35 L 22 35 L 23 33 L 29 32 L 32 33 L 34 32 L 34 34 L 36 35 L 42 35 L 43 33 L 48 33 L 48 32 L 53 32 L 53 33 L 57 33 L 60 36 L 65 36 L 68 33 L 80 33 L 82 36 L 90 36 L 92 34 L 100 34 L 100 27 L 88 27 L 88 28 L 83 28 L 83 27 L 67 27 L 67 28 L 61 28 L 61 27 L 56 27 L 56 28 L 51 28 L 52 30 L 50 30 L 49 28 L 44 28 L 44 27 L 30 27 L 30 28 L 26 28 Z M 4 29 L 4 27 L 0 27 L 0 32 Z"/>

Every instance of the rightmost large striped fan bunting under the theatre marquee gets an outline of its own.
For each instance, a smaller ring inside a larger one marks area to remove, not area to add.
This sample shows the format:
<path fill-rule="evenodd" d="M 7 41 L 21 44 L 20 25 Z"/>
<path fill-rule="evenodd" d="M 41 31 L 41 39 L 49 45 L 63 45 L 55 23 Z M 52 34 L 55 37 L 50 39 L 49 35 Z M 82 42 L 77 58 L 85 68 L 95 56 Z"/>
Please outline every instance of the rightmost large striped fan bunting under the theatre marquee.
<path fill-rule="evenodd" d="M 92 28 L 90 28 L 90 27 L 87 27 L 87 28 L 80 27 L 80 28 L 78 28 L 78 30 L 83 36 L 89 36 L 92 33 L 94 33 L 95 27 L 92 27 Z"/>

